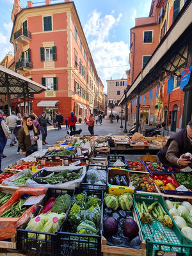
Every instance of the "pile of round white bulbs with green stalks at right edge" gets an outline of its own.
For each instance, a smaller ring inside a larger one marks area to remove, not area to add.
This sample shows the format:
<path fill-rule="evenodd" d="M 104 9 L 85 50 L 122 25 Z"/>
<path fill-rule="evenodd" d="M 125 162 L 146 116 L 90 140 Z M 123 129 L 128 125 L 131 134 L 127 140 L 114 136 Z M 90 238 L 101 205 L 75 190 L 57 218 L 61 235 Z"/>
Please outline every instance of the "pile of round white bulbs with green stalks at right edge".
<path fill-rule="evenodd" d="M 165 200 L 165 204 L 182 234 L 192 240 L 192 205 L 187 201 L 170 200 Z"/>

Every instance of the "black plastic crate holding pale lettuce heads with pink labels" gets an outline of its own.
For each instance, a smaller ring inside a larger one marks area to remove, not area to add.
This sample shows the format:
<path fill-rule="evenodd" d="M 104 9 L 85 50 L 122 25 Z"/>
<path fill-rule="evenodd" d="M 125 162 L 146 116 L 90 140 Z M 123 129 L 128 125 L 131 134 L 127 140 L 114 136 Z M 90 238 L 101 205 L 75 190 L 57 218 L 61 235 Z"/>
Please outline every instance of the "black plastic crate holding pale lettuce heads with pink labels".
<path fill-rule="evenodd" d="M 47 204 L 49 198 L 57 198 L 58 196 L 64 195 L 65 193 L 68 193 L 68 195 L 72 196 L 72 198 L 74 196 L 74 190 L 72 189 L 47 189 L 46 196 L 43 199 L 42 204 L 36 209 L 34 216 L 40 214 L 45 204 Z M 68 210 L 66 212 L 65 220 L 67 218 L 69 209 L 70 206 L 68 207 Z M 65 222 L 65 220 L 63 221 L 63 223 Z M 33 230 L 26 230 L 25 228 L 27 227 L 28 222 L 24 223 L 23 225 L 17 228 L 17 251 L 41 252 L 50 255 L 58 255 L 58 233 L 56 232 L 55 234 L 52 234 L 45 232 L 36 232 Z M 63 223 L 61 223 L 58 229 L 61 228 Z M 29 234 L 31 233 L 35 234 L 34 238 L 29 237 Z M 39 239 L 39 234 L 44 234 L 45 239 Z"/>

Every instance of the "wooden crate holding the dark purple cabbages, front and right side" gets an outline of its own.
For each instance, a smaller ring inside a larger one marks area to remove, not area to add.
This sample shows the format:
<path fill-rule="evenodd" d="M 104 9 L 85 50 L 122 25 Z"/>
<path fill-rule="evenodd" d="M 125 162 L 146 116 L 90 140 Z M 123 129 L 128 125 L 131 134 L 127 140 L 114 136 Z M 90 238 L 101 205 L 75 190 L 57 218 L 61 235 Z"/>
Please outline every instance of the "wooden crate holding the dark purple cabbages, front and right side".
<path fill-rule="evenodd" d="M 120 247 L 120 246 L 109 246 L 107 245 L 107 240 L 105 237 L 102 237 L 102 246 L 101 246 L 101 252 L 103 253 L 103 256 L 121 256 L 121 255 L 127 255 L 127 256 L 146 256 L 146 243 L 143 239 L 143 235 L 141 232 L 140 222 L 138 220 L 138 216 L 136 214 L 136 211 L 134 207 L 132 207 L 132 213 L 134 216 L 134 220 L 136 223 L 138 223 L 139 227 L 139 236 L 141 240 L 141 249 L 133 249 L 133 248 L 127 248 L 127 247 Z"/>

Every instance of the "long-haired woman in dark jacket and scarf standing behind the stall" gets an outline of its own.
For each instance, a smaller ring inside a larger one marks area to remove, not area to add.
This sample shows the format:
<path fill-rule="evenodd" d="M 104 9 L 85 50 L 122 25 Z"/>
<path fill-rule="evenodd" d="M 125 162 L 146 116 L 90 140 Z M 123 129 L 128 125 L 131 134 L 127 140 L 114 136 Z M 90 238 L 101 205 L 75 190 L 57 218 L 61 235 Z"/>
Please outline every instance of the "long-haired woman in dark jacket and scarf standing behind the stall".
<path fill-rule="evenodd" d="M 22 128 L 19 130 L 19 147 L 22 154 L 27 157 L 37 151 L 38 131 L 29 116 L 24 116 Z"/>

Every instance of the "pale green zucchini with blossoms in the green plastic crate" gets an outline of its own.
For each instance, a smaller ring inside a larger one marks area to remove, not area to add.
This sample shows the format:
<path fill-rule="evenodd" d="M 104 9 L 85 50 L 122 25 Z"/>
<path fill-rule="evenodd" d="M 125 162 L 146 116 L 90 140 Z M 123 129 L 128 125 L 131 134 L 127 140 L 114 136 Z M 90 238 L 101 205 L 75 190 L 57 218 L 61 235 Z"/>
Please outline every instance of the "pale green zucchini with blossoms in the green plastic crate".
<path fill-rule="evenodd" d="M 172 219 L 170 216 L 164 211 L 163 206 L 155 201 L 151 205 L 146 205 L 145 201 L 141 204 L 140 202 L 136 202 L 136 209 L 138 210 L 140 220 L 142 223 L 150 224 L 152 223 L 152 216 L 155 220 L 160 221 L 163 225 L 168 227 L 172 227 Z"/>

